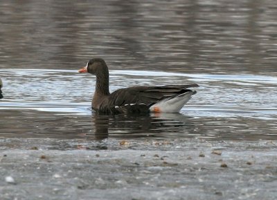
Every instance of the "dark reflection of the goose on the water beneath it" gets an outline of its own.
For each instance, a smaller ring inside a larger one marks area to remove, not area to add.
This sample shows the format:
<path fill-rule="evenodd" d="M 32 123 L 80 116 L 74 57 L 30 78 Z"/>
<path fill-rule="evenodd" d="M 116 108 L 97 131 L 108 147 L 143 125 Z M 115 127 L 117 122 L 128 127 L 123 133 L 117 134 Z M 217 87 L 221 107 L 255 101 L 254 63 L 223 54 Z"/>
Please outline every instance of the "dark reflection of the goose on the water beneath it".
<path fill-rule="evenodd" d="M 106 138 L 184 138 L 193 135 L 193 117 L 180 113 L 160 115 L 92 115 L 96 140 Z"/>

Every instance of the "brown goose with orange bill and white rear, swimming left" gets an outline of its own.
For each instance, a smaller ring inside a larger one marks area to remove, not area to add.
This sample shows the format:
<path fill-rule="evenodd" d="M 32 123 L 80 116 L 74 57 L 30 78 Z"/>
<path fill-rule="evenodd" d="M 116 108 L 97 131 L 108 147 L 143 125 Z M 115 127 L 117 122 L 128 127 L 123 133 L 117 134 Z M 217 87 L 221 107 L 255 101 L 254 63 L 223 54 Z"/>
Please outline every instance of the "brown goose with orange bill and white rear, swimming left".
<path fill-rule="evenodd" d="M 96 75 L 96 90 L 91 107 L 98 113 L 177 113 L 184 104 L 195 94 L 188 88 L 198 87 L 189 85 L 163 86 L 134 86 L 109 93 L 109 70 L 104 60 L 94 58 L 89 60 L 86 67 L 79 70 Z M 178 100 L 178 101 L 177 101 Z M 186 102 L 185 102 L 186 101 Z M 176 108 L 170 107 L 176 104 Z M 168 104 L 168 106 L 167 106 Z"/>

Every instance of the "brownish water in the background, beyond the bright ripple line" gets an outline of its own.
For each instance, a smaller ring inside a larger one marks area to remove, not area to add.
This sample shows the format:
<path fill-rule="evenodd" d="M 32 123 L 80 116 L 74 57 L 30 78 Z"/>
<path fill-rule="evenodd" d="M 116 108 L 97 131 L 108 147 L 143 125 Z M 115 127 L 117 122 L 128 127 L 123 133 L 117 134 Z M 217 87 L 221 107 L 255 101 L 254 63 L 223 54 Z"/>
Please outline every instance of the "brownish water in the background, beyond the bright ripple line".
<path fill-rule="evenodd" d="M 276 74 L 276 4 L 0 1 L 0 67 Z"/>

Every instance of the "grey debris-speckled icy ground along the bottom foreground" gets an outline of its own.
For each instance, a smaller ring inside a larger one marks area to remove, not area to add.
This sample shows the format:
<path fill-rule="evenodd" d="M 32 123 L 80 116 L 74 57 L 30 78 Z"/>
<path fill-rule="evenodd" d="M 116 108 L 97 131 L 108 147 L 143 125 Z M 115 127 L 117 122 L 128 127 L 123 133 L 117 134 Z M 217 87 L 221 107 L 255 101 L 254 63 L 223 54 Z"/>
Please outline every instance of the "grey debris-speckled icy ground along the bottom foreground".
<path fill-rule="evenodd" d="M 0 142 L 0 199 L 277 199 L 277 142 Z"/>

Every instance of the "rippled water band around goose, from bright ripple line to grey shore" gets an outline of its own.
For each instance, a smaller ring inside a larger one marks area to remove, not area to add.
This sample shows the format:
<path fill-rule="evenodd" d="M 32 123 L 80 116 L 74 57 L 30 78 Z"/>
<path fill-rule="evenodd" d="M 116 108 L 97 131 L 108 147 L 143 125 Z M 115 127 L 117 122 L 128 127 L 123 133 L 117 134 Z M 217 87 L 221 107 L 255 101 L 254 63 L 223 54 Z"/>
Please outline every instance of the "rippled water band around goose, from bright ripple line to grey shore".
<path fill-rule="evenodd" d="M 198 83 L 180 113 L 96 115 L 95 77 L 77 70 L 1 69 L 1 137 L 8 138 L 205 138 L 275 140 L 274 76 L 181 74 L 111 70 L 110 90 L 131 85 Z M 124 81 L 123 81 L 124 80 Z"/>

